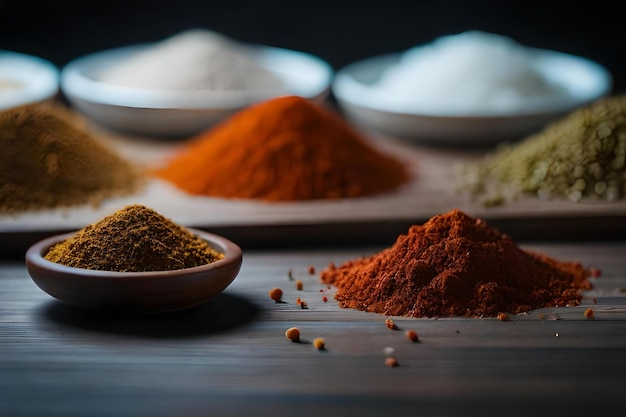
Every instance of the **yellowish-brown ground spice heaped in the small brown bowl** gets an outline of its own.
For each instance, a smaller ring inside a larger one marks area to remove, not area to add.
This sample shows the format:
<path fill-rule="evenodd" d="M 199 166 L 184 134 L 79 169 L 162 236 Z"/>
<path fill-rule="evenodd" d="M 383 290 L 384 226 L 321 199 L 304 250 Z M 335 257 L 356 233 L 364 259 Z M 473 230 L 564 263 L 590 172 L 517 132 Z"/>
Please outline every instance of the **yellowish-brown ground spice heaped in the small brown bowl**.
<path fill-rule="evenodd" d="M 52 246 L 44 257 L 75 268 L 144 272 L 205 265 L 224 254 L 153 209 L 130 205 Z"/>

